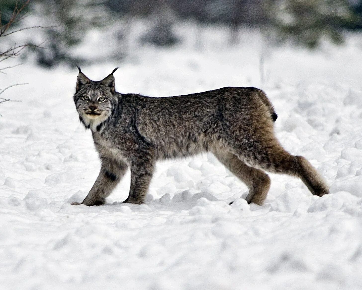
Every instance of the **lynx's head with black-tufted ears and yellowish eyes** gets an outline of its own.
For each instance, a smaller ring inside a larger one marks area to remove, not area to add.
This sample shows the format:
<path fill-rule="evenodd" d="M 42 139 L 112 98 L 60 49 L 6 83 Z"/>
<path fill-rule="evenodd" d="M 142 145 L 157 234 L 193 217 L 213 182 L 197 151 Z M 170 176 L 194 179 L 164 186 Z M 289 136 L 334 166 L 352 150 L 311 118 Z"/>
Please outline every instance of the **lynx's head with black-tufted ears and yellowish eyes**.
<path fill-rule="evenodd" d="M 79 114 L 79 119 L 85 128 L 98 129 L 114 111 L 118 104 L 118 93 L 115 92 L 113 73 L 99 81 L 90 80 L 81 72 L 80 67 L 77 76 L 77 84 L 74 103 Z M 98 129 L 99 130 L 99 129 Z"/>

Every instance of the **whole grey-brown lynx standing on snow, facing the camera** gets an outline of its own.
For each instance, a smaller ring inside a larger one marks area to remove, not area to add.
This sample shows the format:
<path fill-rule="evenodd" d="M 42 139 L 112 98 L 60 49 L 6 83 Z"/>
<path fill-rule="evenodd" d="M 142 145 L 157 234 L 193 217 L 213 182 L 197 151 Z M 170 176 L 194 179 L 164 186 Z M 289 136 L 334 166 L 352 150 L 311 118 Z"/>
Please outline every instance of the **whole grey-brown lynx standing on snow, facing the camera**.
<path fill-rule="evenodd" d="M 201 152 L 212 152 L 248 186 L 248 203 L 262 204 L 266 198 L 270 178 L 264 170 L 299 177 L 314 195 L 328 193 L 307 159 L 279 144 L 273 130 L 277 114 L 262 90 L 226 87 L 151 98 L 116 92 L 116 69 L 101 81 L 78 69 L 74 102 L 101 159 L 82 204 L 104 204 L 128 167 L 131 186 L 125 202 L 143 203 L 157 160 Z"/>

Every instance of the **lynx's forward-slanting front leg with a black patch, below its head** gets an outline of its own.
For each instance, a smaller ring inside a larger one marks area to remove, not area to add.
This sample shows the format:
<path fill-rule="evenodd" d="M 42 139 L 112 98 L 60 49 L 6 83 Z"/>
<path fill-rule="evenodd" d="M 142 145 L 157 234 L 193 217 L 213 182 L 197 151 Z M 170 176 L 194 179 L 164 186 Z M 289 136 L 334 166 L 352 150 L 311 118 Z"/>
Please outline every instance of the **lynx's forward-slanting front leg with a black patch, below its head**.
<path fill-rule="evenodd" d="M 127 165 L 122 161 L 116 163 L 108 158 L 101 158 L 101 162 L 101 171 L 96 182 L 81 204 L 87 206 L 104 204 L 106 197 L 111 194 L 126 173 Z M 72 203 L 72 205 L 78 204 L 77 202 Z"/>

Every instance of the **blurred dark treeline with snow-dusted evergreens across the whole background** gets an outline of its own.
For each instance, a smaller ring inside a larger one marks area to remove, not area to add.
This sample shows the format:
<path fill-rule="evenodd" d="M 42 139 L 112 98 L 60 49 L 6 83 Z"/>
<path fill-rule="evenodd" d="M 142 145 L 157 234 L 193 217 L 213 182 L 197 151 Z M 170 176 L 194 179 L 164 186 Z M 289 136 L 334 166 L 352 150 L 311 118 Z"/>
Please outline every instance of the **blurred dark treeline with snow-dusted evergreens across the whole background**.
<path fill-rule="evenodd" d="M 18 6 L 24 2 L 19 0 Z M 0 1 L 3 24 L 15 4 L 16 0 Z M 38 63 L 47 67 L 83 62 L 69 49 L 90 29 L 111 29 L 120 20 L 130 26 L 132 19 L 147 19 L 139 42 L 169 47 L 182 42 L 174 30 L 182 21 L 228 27 L 228 45 L 237 45 L 240 30 L 249 27 L 267 32 L 277 42 L 310 49 L 323 40 L 343 43 L 345 31 L 362 29 L 362 0 L 32 0 L 26 10 L 39 18 L 39 25 L 49 26 L 45 49 L 35 51 Z M 117 31 L 114 40 L 121 42 L 127 33 L 132 30 Z"/>

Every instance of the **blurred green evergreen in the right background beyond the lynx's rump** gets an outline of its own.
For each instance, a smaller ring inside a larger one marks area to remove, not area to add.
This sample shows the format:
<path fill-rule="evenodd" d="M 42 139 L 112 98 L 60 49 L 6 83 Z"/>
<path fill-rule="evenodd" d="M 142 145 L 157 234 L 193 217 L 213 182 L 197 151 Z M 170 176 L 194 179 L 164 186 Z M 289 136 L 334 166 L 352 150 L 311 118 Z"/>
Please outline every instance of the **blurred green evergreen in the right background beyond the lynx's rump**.
<path fill-rule="evenodd" d="M 315 48 L 324 37 L 342 43 L 342 28 L 356 17 L 344 0 L 272 0 L 265 6 L 269 20 L 282 40 Z"/>

